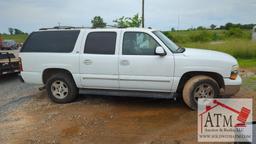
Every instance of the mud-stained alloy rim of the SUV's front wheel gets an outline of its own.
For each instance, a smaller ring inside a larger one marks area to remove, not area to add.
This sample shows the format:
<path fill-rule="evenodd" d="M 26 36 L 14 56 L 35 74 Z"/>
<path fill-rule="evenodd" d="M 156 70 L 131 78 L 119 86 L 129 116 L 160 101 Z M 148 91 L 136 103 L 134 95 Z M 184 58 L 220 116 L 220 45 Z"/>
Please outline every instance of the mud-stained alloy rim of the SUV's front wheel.
<path fill-rule="evenodd" d="M 199 98 L 214 98 L 214 88 L 210 84 L 200 84 L 194 90 L 194 100 L 197 102 Z"/>

